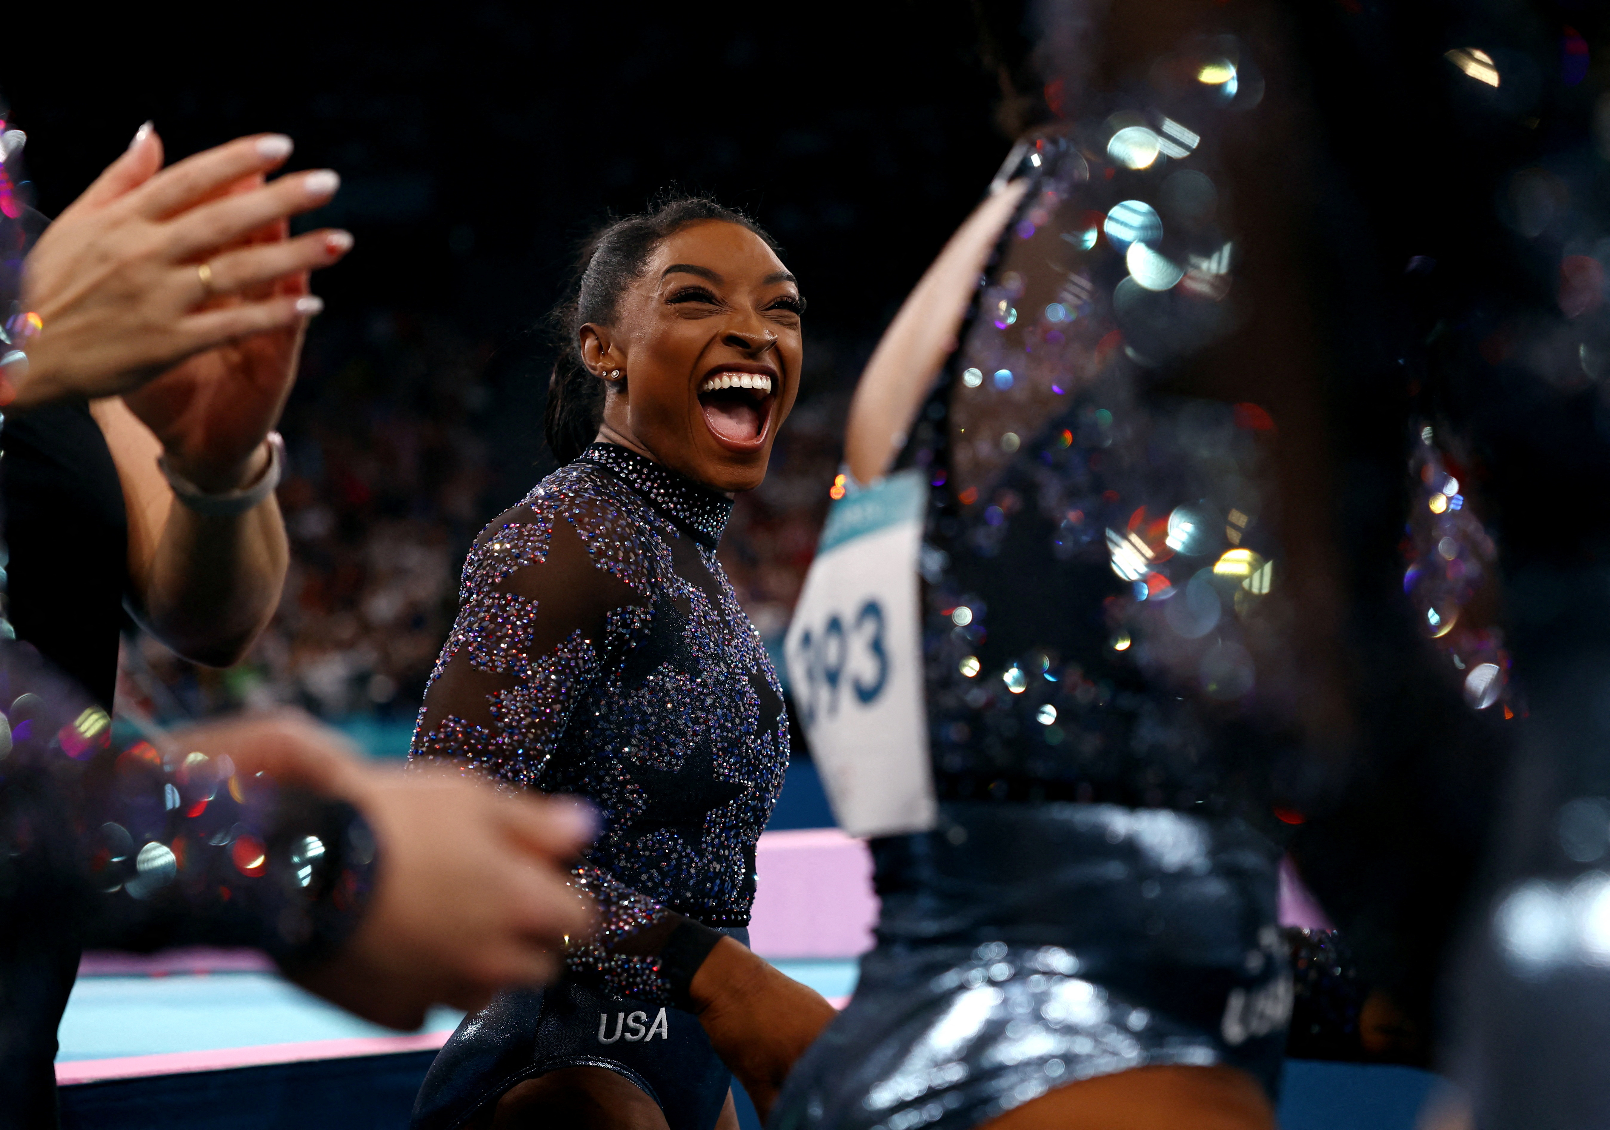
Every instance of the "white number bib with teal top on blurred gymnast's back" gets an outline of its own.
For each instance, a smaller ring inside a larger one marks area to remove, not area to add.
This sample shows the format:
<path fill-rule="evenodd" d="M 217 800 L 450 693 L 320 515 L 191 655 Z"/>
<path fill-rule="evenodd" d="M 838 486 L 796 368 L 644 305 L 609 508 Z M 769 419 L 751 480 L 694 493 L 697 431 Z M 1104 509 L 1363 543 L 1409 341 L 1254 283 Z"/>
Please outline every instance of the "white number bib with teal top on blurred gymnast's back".
<path fill-rule="evenodd" d="M 918 470 L 836 502 L 784 641 L 800 724 L 850 835 L 937 819 L 918 618 L 926 504 Z"/>

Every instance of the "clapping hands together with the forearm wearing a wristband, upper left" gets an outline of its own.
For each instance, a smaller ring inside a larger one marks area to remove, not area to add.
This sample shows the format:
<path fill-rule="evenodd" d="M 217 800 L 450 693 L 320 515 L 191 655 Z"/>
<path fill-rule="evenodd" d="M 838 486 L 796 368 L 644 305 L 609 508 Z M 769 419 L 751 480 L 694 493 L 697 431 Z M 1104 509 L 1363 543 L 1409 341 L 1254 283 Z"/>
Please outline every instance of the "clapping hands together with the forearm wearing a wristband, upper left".
<path fill-rule="evenodd" d="M 13 341 L 24 359 L 0 390 L 8 414 L 93 401 L 129 513 L 132 612 L 201 663 L 238 660 L 279 604 L 287 544 L 267 436 L 320 307 L 309 272 L 353 243 L 290 238 L 290 217 L 338 184 L 327 169 L 267 182 L 290 151 L 262 135 L 163 169 L 161 140 L 142 129 L 29 251 L 34 328 Z M 198 509 L 184 496 L 211 497 Z"/>

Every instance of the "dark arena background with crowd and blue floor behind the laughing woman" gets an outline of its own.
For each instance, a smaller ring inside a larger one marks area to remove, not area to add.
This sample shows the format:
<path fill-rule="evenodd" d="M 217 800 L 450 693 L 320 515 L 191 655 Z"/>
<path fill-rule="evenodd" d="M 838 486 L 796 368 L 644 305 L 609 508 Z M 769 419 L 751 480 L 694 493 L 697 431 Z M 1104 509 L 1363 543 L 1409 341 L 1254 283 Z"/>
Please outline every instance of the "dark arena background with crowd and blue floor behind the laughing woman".
<path fill-rule="evenodd" d="M 855 378 L 1035 97 L 1013 82 L 1021 19 L 997 0 L 8 11 L 0 93 L 43 212 L 151 119 L 171 159 L 290 134 L 288 167 L 343 177 L 304 225 L 356 235 L 314 282 L 327 311 L 282 427 L 293 563 L 275 623 L 224 671 L 130 623 L 119 705 L 180 723 L 288 703 L 401 757 L 469 542 L 552 467 L 544 315 L 576 245 L 665 187 L 752 212 L 810 303 L 799 406 L 723 546 L 781 644 Z M 826 824 L 800 758 L 773 829 Z M 855 953 L 778 961 L 842 996 Z M 92 955 L 84 974 L 58 1061 L 68 1127 L 402 1127 L 456 1022 L 394 1037 L 242 955 Z M 1407 1069 L 1294 1064 L 1283 1125 L 1407 1130 L 1430 1088 Z"/>

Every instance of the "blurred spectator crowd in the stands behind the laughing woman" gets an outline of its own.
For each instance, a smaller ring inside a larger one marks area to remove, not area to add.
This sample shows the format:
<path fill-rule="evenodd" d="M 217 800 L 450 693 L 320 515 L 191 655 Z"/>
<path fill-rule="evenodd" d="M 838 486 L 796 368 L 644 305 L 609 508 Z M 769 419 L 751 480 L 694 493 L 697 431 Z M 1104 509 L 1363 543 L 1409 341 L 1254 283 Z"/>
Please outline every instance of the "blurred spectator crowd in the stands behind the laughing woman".
<path fill-rule="evenodd" d="M 847 407 L 834 349 L 811 346 L 766 481 L 739 497 L 721 544 L 778 660 Z M 172 723 L 295 705 L 332 721 L 406 726 L 452 626 L 470 542 L 552 470 L 536 439 L 541 396 L 531 394 L 546 385 L 541 351 L 512 367 L 496 354 L 448 320 L 370 311 L 316 324 L 282 425 L 291 563 L 274 623 L 227 670 L 180 660 L 130 623 L 119 708 Z"/>

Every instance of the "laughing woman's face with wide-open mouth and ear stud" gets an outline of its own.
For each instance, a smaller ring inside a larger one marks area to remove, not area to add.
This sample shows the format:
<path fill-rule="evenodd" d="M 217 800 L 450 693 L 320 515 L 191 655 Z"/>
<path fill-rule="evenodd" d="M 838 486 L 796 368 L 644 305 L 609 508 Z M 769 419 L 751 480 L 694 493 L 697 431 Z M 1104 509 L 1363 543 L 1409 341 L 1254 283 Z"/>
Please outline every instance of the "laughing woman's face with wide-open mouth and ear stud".
<path fill-rule="evenodd" d="M 581 327 L 609 385 L 599 438 L 718 491 L 766 476 L 800 378 L 799 285 L 765 240 L 705 221 L 668 237 L 621 295 L 612 325 Z"/>

